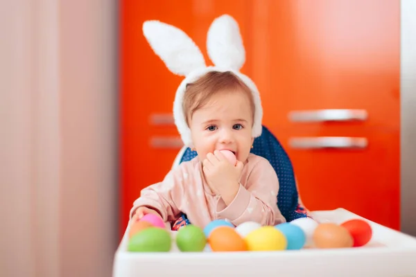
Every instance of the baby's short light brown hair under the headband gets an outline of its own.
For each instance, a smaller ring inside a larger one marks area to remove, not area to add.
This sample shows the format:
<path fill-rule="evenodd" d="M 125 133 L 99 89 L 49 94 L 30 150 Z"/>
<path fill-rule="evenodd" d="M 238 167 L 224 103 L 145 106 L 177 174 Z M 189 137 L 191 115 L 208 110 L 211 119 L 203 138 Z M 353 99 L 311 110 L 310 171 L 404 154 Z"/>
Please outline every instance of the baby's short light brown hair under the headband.
<path fill-rule="evenodd" d="M 254 100 L 249 87 L 231 71 L 210 71 L 195 82 L 187 84 L 184 101 L 182 102 L 187 124 L 189 125 L 189 118 L 192 118 L 193 113 L 204 107 L 216 93 L 236 90 L 241 90 L 248 96 L 254 120 Z"/>

